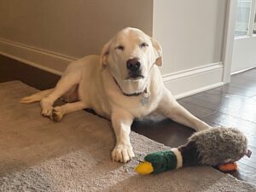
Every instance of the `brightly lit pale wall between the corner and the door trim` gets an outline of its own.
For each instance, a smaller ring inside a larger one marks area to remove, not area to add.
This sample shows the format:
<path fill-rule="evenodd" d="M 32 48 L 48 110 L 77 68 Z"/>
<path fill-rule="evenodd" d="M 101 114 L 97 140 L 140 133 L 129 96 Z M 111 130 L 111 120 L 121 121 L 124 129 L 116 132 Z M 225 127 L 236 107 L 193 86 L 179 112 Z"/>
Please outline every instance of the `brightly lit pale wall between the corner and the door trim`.
<path fill-rule="evenodd" d="M 226 0 L 154 1 L 153 35 L 163 46 L 163 73 L 222 61 Z"/>

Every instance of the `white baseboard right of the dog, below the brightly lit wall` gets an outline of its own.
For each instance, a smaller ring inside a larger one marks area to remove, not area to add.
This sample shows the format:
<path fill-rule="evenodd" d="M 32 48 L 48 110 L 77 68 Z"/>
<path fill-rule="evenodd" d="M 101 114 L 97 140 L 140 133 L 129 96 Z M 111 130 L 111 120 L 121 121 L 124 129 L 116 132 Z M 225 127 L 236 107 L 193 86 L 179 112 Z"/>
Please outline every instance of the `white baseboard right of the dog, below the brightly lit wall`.
<path fill-rule="evenodd" d="M 175 98 L 179 99 L 223 85 L 223 71 L 222 62 L 218 62 L 165 74 L 163 81 Z"/>

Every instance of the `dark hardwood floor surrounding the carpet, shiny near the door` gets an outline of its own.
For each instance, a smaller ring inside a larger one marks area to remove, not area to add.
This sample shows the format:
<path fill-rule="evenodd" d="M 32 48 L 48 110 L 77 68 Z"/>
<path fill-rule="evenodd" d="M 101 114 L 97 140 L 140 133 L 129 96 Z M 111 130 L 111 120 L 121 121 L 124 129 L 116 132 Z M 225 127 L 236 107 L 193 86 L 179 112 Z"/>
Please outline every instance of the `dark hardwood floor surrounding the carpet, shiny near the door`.
<path fill-rule="evenodd" d="M 19 79 L 44 90 L 53 87 L 59 78 L 0 55 L 0 82 Z M 253 154 L 250 159 L 239 160 L 239 170 L 230 174 L 256 184 L 256 69 L 233 75 L 230 84 L 184 97 L 178 102 L 209 125 L 233 126 L 246 134 Z M 160 116 L 135 121 L 132 130 L 171 147 L 186 143 L 194 132 Z"/>

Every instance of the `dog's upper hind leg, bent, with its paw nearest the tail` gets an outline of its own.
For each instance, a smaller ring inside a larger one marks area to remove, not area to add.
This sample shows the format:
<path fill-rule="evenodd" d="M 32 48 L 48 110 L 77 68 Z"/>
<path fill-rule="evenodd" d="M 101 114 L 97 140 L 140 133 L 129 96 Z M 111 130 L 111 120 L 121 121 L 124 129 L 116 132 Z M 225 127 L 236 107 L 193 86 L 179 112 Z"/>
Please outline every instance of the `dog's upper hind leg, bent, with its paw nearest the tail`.
<path fill-rule="evenodd" d="M 65 76 L 62 76 L 59 82 L 56 84 L 55 89 L 41 100 L 42 114 L 49 117 L 52 113 L 54 102 L 70 90 L 73 85 L 79 84 L 81 79 L 81 72 L 77 73 L 67 73 Z"/>

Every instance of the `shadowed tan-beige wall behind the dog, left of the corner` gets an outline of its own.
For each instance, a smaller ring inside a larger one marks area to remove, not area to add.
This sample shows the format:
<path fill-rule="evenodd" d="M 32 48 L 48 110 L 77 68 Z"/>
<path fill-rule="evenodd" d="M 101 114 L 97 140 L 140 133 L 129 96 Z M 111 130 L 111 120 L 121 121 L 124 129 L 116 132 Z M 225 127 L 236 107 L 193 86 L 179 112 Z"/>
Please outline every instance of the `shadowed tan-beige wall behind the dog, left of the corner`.
<path fill-rule="evenodd" d="M 125 26 L 152 35 L 153 0 L 1 0 L 0 38 L 75 58 Z"/>

